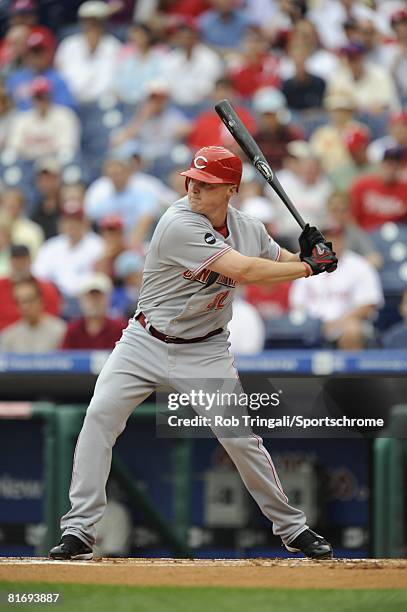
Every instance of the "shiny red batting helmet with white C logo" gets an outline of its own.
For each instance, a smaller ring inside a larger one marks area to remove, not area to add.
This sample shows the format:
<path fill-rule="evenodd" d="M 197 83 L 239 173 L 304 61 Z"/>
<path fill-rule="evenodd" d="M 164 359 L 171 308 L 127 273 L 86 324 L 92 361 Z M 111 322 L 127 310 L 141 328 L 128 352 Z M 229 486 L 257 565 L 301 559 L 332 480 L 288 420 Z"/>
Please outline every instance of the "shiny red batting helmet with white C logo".
<path fill-rule="evenodd" d="M 242 161 L 224 147 L 202 147 L 195 153 L 189 170 L 180 174 L 187 177 L 186 186 L 188 179 L 193 178 L 204 183 L 223 183 L 239 188 Z"/>

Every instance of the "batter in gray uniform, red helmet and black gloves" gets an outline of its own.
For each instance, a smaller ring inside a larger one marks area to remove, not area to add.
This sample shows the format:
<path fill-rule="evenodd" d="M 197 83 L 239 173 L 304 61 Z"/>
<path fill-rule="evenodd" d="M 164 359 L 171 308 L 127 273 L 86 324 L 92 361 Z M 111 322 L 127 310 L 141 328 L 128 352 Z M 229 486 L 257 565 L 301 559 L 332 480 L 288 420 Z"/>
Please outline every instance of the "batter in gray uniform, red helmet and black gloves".
<path fill-rule="evenodd" d="M 71 509 L 61 519 L 53 559 L 91 559 L 95 524 L 106 506 L 112 447 L 134 408 L 158 386 L 176 391 L 191 381 L 240 382 L 229 352 L 227 324 L 238 283 L 274 284 L 333 271 L 337 259 L 316 228 L 306 226 L 293 254 L 258 219 L 229 206 L 242 162 L 223 147 L 200 149 L 186 177 L 187 196 L 161 217 L 147 253 L 138 308 L 97 380 L 78 437 Z M 240 387 L 241 388 L 241 387 Z M 290 552 L 332 557 L 331 545 L 291 506 L 262 439 L 213 430 L 245 486 Z"/>

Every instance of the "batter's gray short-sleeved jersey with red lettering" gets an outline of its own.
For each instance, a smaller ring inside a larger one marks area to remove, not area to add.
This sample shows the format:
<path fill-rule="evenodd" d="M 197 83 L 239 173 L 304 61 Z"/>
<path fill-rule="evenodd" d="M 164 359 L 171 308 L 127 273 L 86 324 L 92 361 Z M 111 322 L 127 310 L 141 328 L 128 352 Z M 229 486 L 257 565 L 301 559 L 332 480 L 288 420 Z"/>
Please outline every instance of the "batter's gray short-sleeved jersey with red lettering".
<path fill-rule="evenodd" d="M 208 266 L 230 249 L 278 260 L 280 247 L 258 219 L 229 206 L 227 227 L 229 235 L 224 238 L 207 217 L 190 209 L 187 197 L 161 217 L 139 296 L 139 311 L 156 329 L 193 338 L 227 326 L 236 282 Z"/>

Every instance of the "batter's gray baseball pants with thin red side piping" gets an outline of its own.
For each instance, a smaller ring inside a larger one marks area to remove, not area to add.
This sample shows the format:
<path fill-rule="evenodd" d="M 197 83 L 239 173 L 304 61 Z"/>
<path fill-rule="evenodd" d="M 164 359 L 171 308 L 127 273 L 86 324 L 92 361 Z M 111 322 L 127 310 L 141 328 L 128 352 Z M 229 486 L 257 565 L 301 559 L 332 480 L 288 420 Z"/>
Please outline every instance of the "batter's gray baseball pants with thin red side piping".
<path fill-rule="evenodd" d="M 166 344 L 135 319 L 130 321 L 98 377 L 78 437 L 69 491 L 71 509 L 61 518 L 63 535 L 73 534 L 90 547 L 95 543 L 95 524 L 106 506 L 112 448 L 131 412 L 157 387 L 171 385 L 187 392 L 197 373 L 200 379 L 236 381 L 227 338 L 228 332 L 223 332 L 196 344 Z M 214 433 L 249 493 L 272 521 L 274 534 L 290 544 L 307 529 L 305 515 L 288 503 L 260 436 L 251 432 L 234 438 Z"/>

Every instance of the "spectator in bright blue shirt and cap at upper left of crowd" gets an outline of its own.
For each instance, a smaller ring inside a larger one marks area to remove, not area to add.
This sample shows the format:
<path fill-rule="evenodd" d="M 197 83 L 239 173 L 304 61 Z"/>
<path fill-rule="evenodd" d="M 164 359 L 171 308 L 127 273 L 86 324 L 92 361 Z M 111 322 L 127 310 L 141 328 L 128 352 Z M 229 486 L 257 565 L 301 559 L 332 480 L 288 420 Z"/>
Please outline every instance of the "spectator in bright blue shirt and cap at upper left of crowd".
<path fill-rule="evenodd" d="M 52 101 L 73 110 L 77 102 L 72 96 L 66 81 L 53 65 L 55 40 L 45 31 L 31 31 L 25 41 L 23 64 L 7 76 L 7 90 L 10 92 L 18 110 L 28 110 L 33 106 L 31 85 L 33 80 L 42 76 L 51 83 Z"/>

